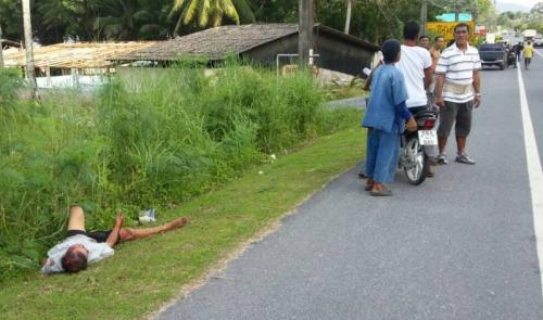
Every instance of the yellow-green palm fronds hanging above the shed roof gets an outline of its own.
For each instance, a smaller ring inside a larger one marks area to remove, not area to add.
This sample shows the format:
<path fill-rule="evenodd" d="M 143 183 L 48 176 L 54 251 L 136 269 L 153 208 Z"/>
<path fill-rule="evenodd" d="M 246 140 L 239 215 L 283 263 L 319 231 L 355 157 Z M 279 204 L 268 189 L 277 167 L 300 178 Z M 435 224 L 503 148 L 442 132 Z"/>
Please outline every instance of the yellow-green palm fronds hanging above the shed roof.
<path fill-rule="evenodd" d="M 177 34 L 181 24 L 198 23 L 201 28 L 216 27 L 223 25 L 227 17 L 236 24 L 240 24 L 240 14 L 254 21 L 254 15 L 247 0 L 174 0 L 172 13 L 181 11 L 174 34 Z"/>

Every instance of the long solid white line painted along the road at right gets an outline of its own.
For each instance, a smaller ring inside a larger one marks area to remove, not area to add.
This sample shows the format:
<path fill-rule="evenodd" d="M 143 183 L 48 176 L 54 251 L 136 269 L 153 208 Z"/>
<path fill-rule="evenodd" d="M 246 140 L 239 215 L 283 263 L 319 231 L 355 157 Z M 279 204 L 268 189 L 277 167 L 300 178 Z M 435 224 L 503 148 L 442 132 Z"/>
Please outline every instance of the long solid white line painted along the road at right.
<path fill-rule="evenodd" d="M 530 178 L 533 228 L 535 231 L 541 287 L 543 292 L 543 171 L 541 169 L 540 154 L 538 151 L 538 143 L 535 141 L 535 133 L 533 131 L 532 118 L 530 117 L 530 107 L 526 97 L 520 64 L 517 64 L 517 74 L 520 91 L 520 111 L 522 114 L 522 126 L 525 129 L 526 161 L 528 166 L 528 176 Z"/>

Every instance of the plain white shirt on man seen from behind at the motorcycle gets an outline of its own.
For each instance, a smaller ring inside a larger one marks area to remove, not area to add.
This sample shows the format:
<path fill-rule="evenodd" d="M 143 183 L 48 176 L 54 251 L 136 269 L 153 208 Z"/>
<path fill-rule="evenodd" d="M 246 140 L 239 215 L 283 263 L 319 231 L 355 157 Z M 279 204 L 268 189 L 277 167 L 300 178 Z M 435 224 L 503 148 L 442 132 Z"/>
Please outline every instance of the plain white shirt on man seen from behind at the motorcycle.
<path fill-rule="evenodd" d="M 407 107 L 422 106 L 428 103 L 425 89 L 425 69 L 432 66 L 430 52 L 421 47 L 402 44 L 402 56 L 397 67 L 405 78 L 405 87 L 409 98 Z"/>

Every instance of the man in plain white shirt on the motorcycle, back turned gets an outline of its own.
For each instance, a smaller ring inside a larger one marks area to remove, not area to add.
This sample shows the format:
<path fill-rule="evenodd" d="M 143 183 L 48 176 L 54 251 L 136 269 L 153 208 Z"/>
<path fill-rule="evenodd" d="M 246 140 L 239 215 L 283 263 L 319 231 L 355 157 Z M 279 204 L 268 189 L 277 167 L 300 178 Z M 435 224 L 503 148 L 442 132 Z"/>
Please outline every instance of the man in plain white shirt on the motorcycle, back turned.
<path fill-rule="evenodd" d="M 405 87 L 409 97 L 405 103 L 413 115 L 428 110 L 426 89 L 432 82 L 433 77 L 430 52 L 425 48 L 417 47 L 419 31 L 420 27 L 416 22 L 408 22 L 404 25 L 402 59 L 397 63 L 397 67 L 404 75 Z M 438 155 L 437 151 L 431 148 L 425 148 L 425 151 L 430 157 Z M 432 169 L 429 170 L 428 176 L 433 177 Z"/>

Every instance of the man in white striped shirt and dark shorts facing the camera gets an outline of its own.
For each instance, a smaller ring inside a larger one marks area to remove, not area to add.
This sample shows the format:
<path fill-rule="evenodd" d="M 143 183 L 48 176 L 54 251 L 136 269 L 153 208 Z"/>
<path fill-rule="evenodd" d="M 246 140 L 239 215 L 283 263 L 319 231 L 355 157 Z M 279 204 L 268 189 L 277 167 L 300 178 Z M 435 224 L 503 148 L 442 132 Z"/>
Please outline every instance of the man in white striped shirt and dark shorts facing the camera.
<path fill-rule="evenodd" d="M 466 154 L 466 140 L 471 130 L 471 113 L 481 104 L 481 60 L 479 51 L 469 46 L 469 26 L 459 23 L 454 28 L 455 42 L 440 56 L 435 68 L 435 104 L 441 107 L 438 128 L 440 155 L 438 163 L 446 164 L 445 145 L 455 124 L 456 162 L 475 165 Z"/>

